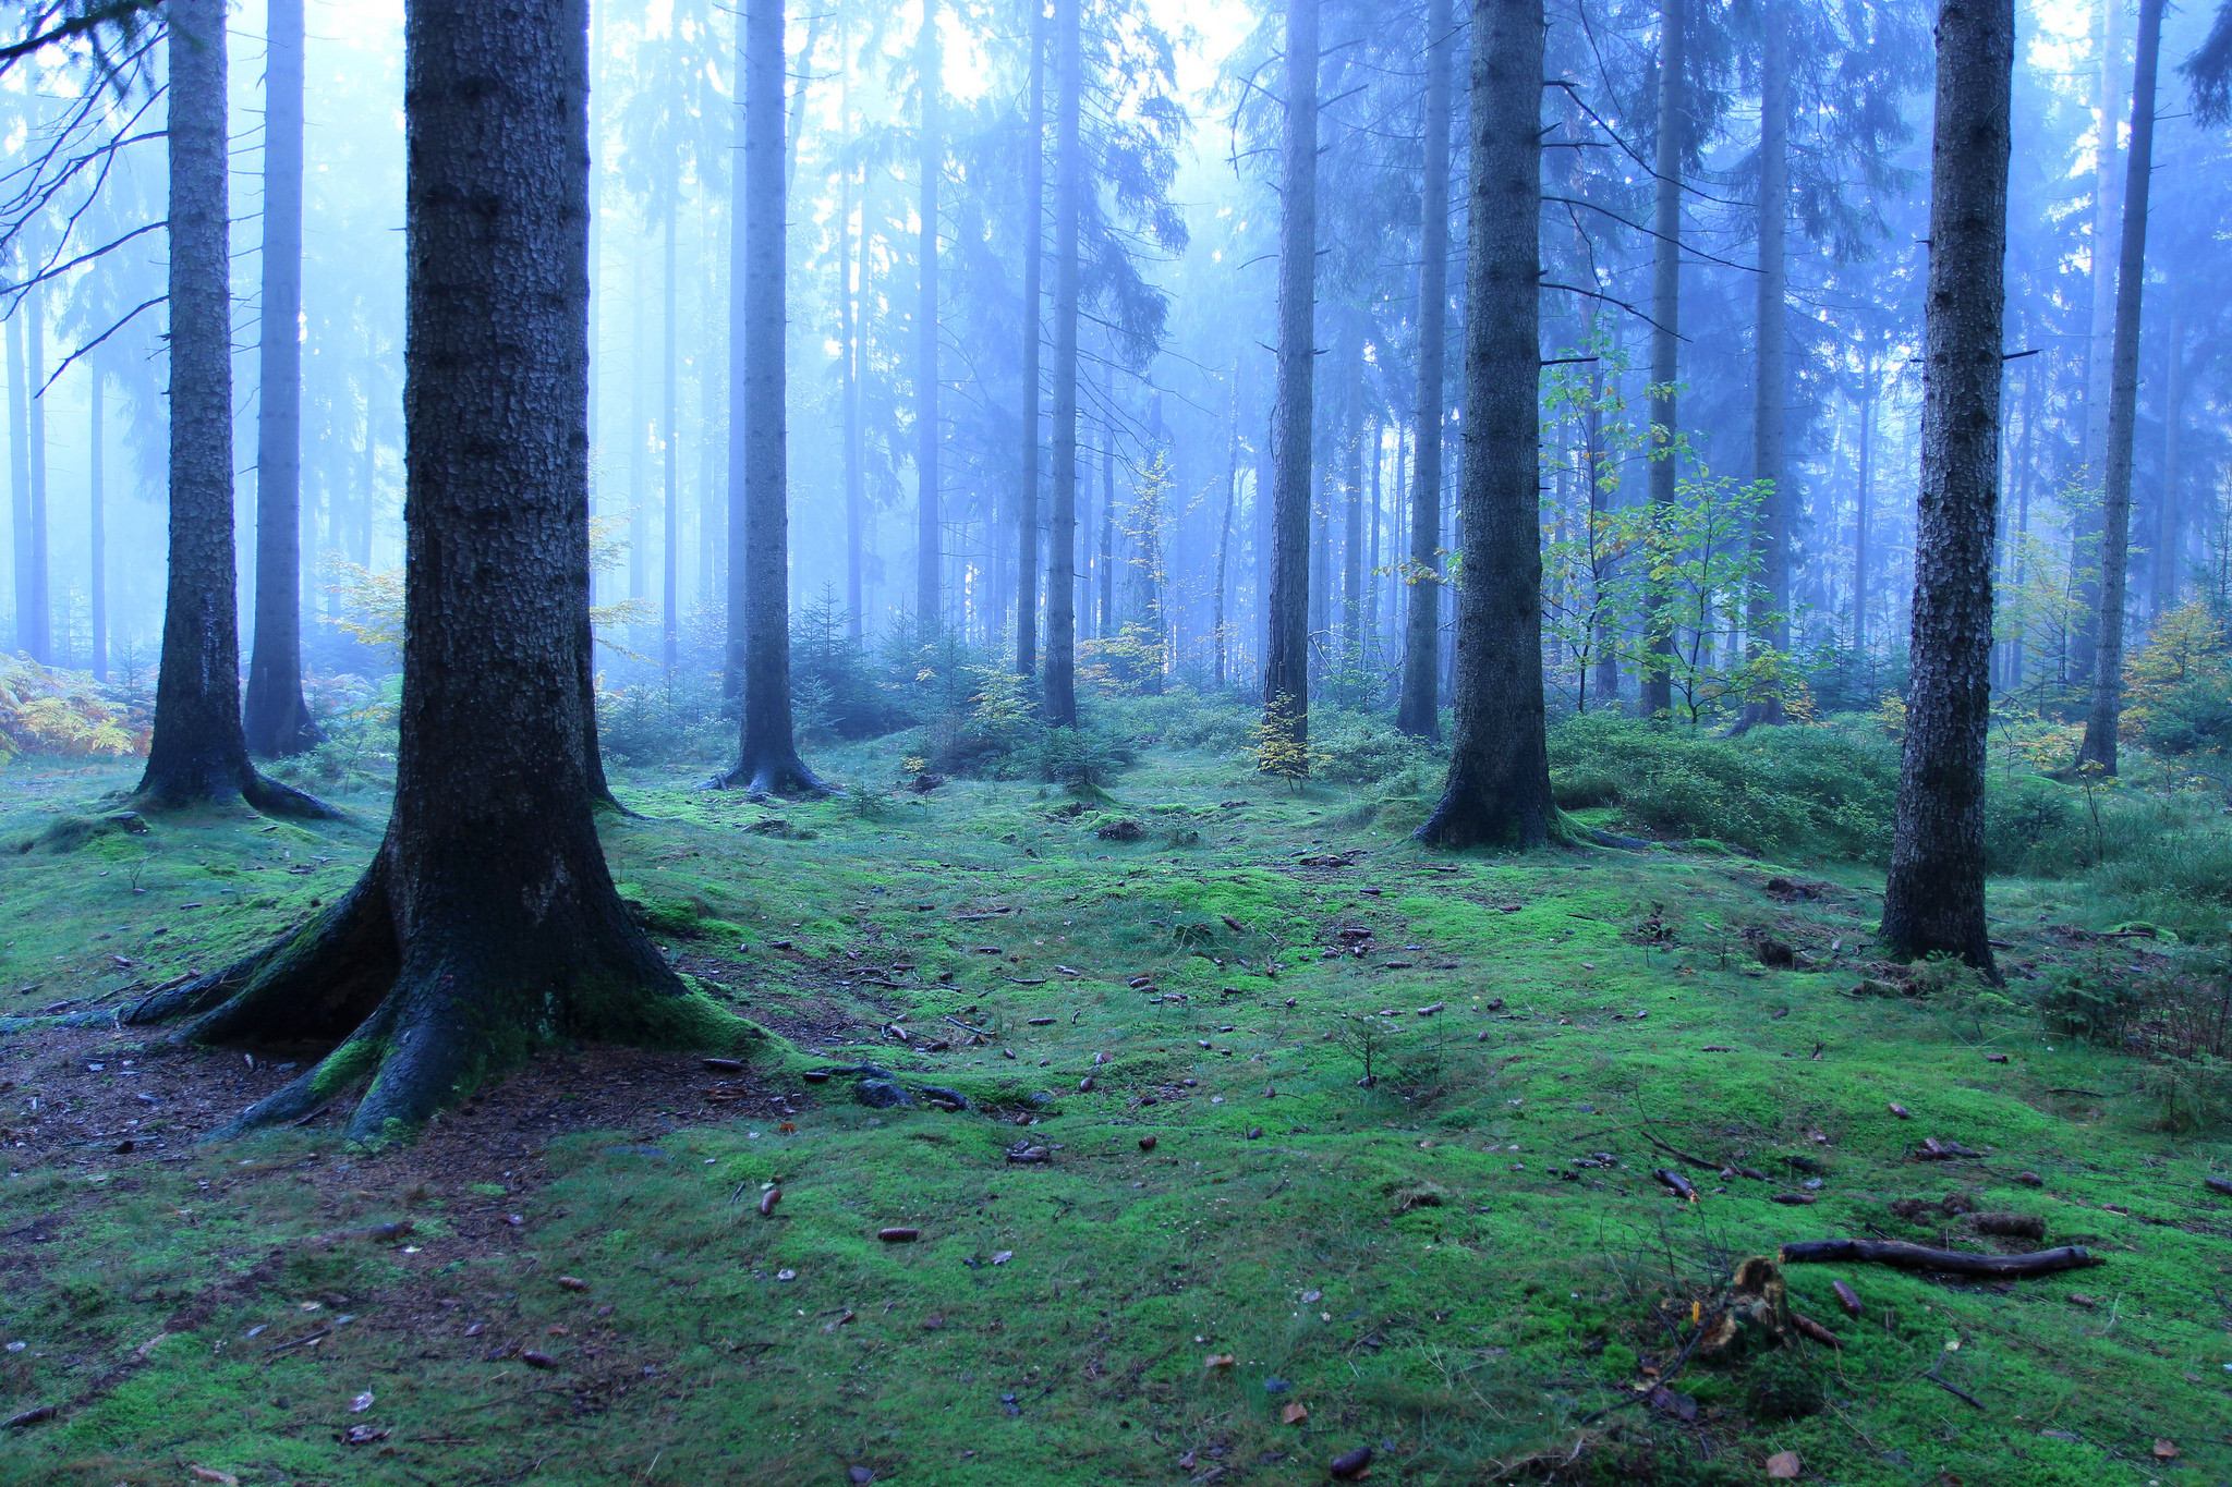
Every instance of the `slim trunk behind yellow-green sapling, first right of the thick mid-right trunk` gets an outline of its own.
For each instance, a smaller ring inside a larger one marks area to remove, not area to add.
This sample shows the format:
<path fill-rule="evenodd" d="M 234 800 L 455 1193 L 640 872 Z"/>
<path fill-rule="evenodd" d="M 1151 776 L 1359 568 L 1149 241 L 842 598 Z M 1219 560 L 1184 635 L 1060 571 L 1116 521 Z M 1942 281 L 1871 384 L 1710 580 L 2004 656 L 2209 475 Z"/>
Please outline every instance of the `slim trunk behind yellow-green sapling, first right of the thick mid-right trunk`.
<path fill-rule="evenodd" d="M 1674 515 L 1674 493 L 1681 470 L 1674 464 L 1674 377 L 1681 372 L 1681 156 L 1685 138 L 1683 114 L 1683 36 L 1687 20 L 1683 0 L 1658 0 L 1658 147 L 1656 207 L 1652 214 L 1652 526 Z M 1670 664 L 1674 660 L 1674 618 L 1665 591 L 1649 582 L 1643 597 L 1643 700 L 1645 718 L 1674 713 Z"/>

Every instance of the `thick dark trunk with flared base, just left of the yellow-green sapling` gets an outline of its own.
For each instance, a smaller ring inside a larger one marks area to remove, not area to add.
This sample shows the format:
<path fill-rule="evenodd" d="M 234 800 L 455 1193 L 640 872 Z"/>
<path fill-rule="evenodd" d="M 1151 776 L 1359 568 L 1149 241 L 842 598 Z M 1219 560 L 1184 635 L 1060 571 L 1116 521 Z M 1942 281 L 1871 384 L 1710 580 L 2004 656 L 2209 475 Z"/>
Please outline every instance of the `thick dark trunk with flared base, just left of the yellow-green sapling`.
<path fill-rule="evenodd" d="M 1473 0 L 1464 283 L 1464 584 L 1449 783 L 1417 838 L 1551 834 L 1542 718 L 1542 0 Z"/>

